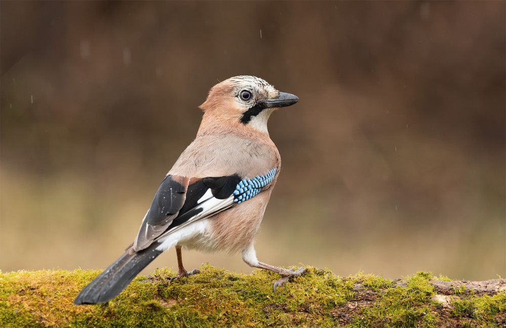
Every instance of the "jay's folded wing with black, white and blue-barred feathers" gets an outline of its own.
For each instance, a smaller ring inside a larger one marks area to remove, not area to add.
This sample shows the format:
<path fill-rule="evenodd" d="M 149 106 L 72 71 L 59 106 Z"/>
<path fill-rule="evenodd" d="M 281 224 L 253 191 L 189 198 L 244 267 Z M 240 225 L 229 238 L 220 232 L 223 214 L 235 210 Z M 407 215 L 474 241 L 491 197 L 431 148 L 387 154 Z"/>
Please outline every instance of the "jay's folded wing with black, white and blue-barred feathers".
<path fill-rule="evenodd" d="M 168 175 L 153 198 L 130 252 L 143 250 L 192 222 L 207 218 L 241 203 L 267 186 L 277 169 L 252 179 L 239 175 L 187 178 Z"/>

